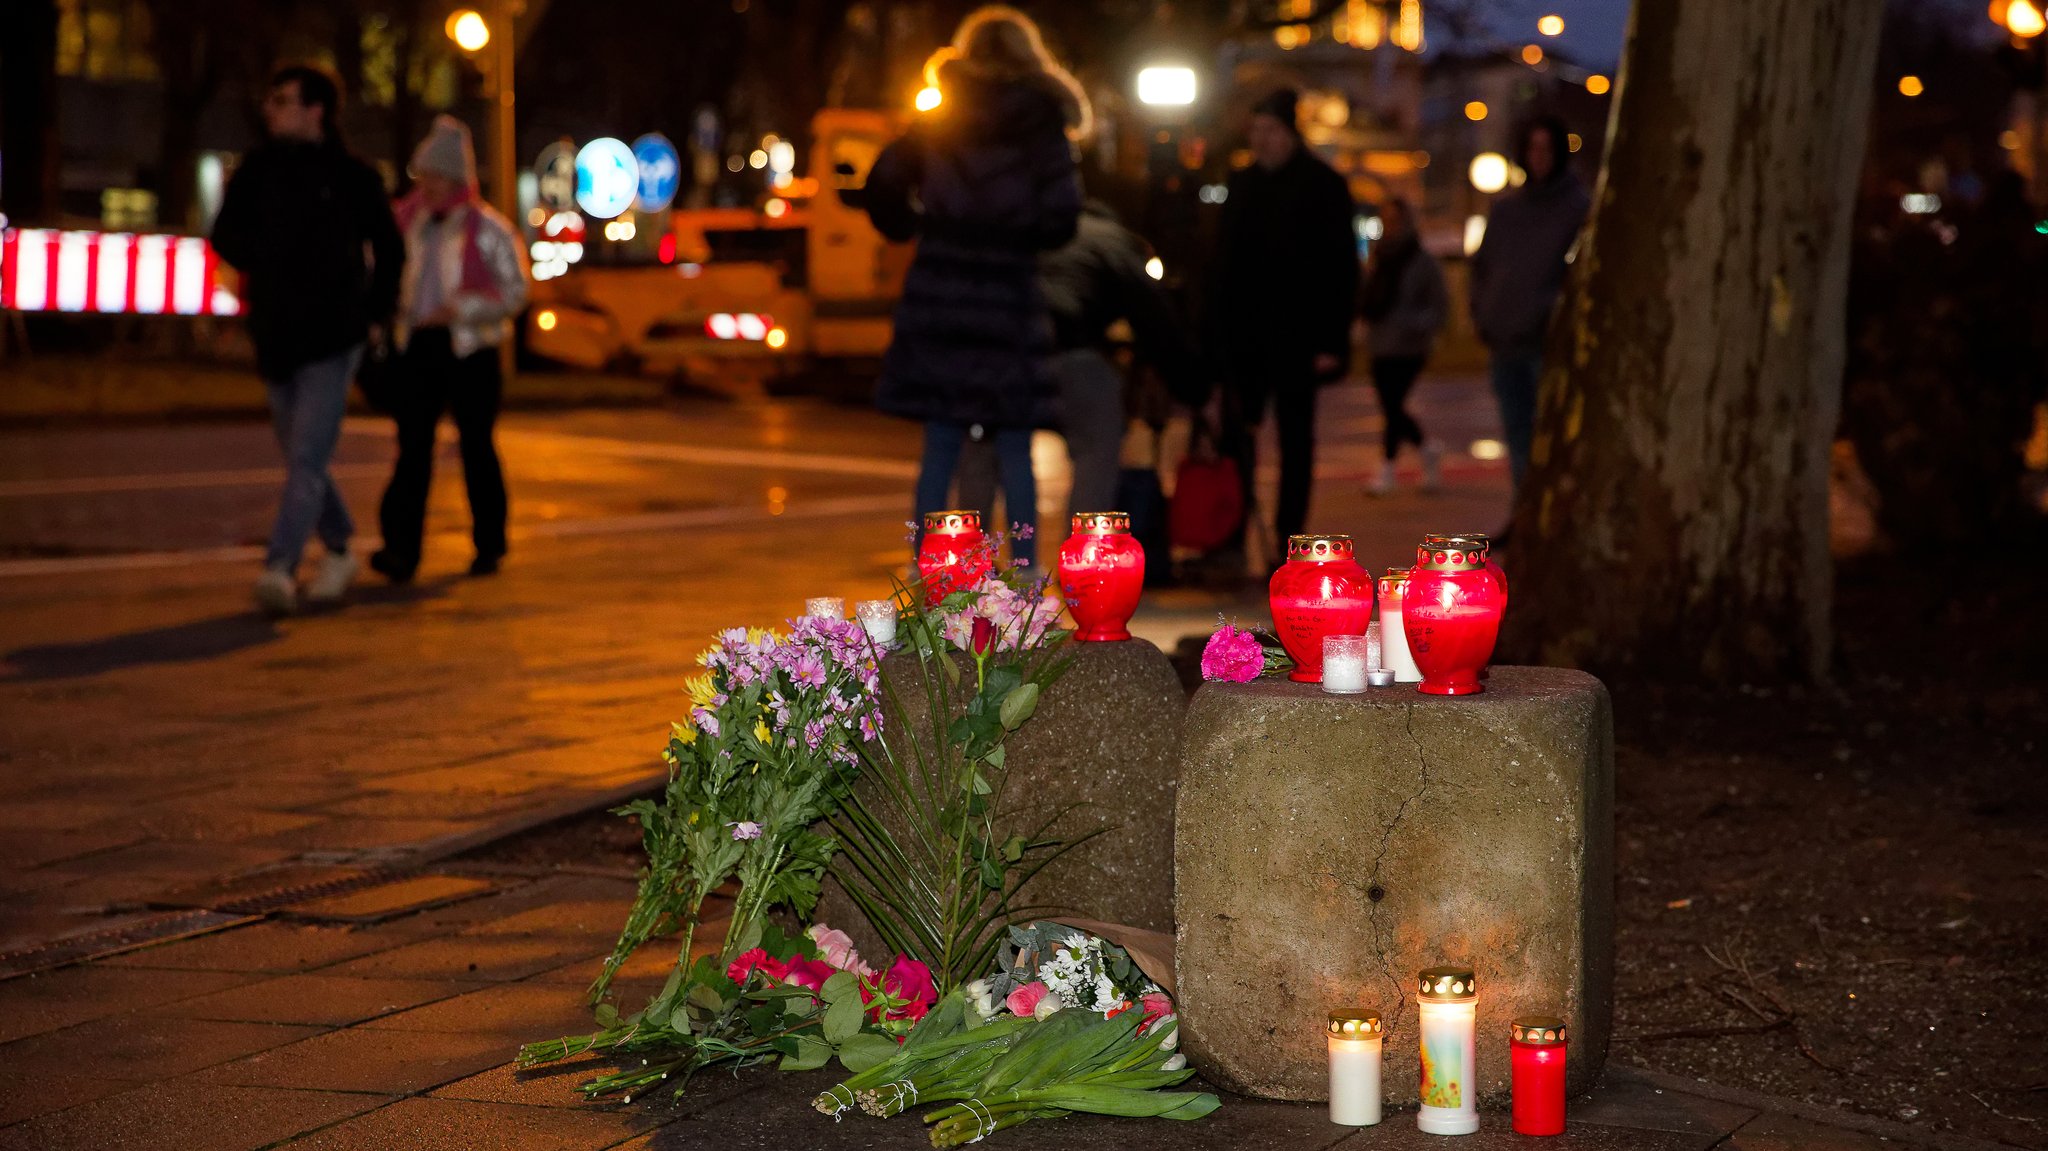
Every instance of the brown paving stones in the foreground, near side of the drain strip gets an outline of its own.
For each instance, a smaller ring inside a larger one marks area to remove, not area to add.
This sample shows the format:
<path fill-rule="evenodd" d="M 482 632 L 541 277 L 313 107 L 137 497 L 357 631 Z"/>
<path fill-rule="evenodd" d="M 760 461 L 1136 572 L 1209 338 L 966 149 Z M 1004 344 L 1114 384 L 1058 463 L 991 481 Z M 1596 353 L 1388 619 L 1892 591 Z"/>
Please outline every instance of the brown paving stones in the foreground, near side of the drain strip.
<path fill-rule="evenodd" d="M 680 1100 L 588 1104 L 602 1061 L 520 1071 L 520 1042 L 590 1028 L 582 991 L 633 893 L 627 877 L 442 868 L 487 891 L 412 911 L 418 883 L 0 983 L 0 1151 L 600 1151 L 928 1147 L 922 1124 L 809 1108 L 836 1077 L 711 1073 Z M 647 948 L 621 999 L 645 999 L 670 956 Z M 1319 1106 L 1225 1098 L 1198 1122 L 1069 1118 L 997 1137 L 1073 1149 L 1346 1151 L 1528 1147 L 1503 1114 L 1477 1137 L 1419 1135 L 1389 1114 L 1331 1126 Z M 1571 1106 L 1559 1149 L 1968 1151 L 1864 1116 L 1819 1112 L 1614 1067 Z"/>

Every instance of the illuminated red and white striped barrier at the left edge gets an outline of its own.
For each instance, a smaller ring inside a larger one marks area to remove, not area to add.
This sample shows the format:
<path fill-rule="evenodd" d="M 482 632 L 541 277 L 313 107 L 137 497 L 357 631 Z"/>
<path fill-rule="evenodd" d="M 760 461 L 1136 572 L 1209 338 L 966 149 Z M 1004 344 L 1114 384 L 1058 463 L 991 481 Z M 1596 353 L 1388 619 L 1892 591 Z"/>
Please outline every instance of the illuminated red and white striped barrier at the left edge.
<path fill-rule="evenodd" d="M 0 231 L 0 309 L 115 315 L 240 315 L 199 236 Z"/>

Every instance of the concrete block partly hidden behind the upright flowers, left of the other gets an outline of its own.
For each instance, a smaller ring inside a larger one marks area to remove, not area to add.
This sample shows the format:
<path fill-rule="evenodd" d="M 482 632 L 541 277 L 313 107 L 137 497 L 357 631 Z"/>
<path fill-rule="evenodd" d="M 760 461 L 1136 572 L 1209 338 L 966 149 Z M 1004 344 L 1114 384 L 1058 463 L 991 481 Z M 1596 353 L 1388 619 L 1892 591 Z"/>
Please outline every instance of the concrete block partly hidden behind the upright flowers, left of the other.
<path fill-rule="evenodd" d="M 1174 784 L 1188 696 L 1174 664 L 1143 639 L 1071 643 L 1067 653 L 1073 666 L 1010 735 L 995 825 L 1028 834 L 1071 807 L 1053 827 L 1057 838 L 1102 834 L 1051 862 L 1020 899 L 1057 907 L 1047 913 L 1171 932 Z M 889 655 L 883 674 L 909 723 L 930 737 L 918 659 Z M 969 684 L 973 674 L 967 664 Z M 825 883 L 817 920 L 846 928 L 860 954 L 881 954 L 879 936 L 836 881 Z"/>

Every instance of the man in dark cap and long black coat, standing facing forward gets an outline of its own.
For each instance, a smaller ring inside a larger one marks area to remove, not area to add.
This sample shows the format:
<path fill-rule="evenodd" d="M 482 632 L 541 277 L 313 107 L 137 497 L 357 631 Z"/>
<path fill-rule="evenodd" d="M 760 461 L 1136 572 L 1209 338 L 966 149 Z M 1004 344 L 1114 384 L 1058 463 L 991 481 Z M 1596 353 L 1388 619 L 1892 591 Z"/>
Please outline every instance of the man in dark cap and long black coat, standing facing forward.
<path fill-rule="evenodd" d="M 1294 104 L 1282 88 L 1251 106 L 1253 164 L 1231 176 L 1223 201 L 1208 317 L 1223 340 L 1219 446 L 1237 459 L 1247 508 L 1268 401 L 1280 424 L 1282 549 L 1309 520 L 1315 397 L 1343 377 L 1358 307 L 1352 190 L 1303 143 Z"/>

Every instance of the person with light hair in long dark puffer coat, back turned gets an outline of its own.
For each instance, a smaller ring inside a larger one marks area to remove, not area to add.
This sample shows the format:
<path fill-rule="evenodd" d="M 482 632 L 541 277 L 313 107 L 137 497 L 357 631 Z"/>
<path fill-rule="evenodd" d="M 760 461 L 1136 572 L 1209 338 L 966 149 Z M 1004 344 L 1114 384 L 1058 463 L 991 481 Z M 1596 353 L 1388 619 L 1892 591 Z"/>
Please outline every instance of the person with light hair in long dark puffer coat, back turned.
<path fill-rule="evenodd" d="M 1038 254 L 1071 240 L 1081 213 L 1073 141 L 1087 98 L 1016 8 L 975 10 L 944 53 L 940 104 L 868 172 L 874 227 L 918 240 L 874 401 L 924 420 L 920 524 L 946 506 L 961 446 L 991 438 L 1010 516 L 1030 526 L 1030 434 L 1053 416 Z M 1012 559 L 1036 563 L 1028 530 Z"/>

